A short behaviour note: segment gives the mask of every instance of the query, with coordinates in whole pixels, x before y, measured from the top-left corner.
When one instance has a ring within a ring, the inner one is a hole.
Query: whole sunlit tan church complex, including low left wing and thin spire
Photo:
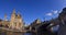
[[[12,30],[24,30],[23,19],[20,13],[15,13],[15,9],[13,9],[10,21],[7,20],[7,14],[4,14],[4,20],[0,22],[2,26],[8,26]]]

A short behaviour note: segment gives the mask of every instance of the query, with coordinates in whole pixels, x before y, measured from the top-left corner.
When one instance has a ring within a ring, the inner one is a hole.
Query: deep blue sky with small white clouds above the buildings
[[[34,20],[41,21],[57,18],[66,0],[0,0],[0,19],[4,20],[4,13],[10,21],[13,9],[20,12],[26,25]]]

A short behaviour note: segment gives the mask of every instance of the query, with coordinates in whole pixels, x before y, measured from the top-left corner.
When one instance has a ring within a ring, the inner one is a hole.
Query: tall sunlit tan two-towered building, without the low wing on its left
[[[13,10],[13,13],[11,14],[11,20],[9,24],[9,28],[15,28],[15,30],[23,30],[23,20],[21,18],[21,14],[15,14],[15,10]]]

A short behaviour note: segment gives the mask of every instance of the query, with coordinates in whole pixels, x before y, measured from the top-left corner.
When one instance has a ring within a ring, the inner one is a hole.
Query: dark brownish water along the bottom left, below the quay
[[[36,35],[35,33],[31,32],[12,32],[12,31],[7,31],[7,30],[0,30],[0,35]]]

